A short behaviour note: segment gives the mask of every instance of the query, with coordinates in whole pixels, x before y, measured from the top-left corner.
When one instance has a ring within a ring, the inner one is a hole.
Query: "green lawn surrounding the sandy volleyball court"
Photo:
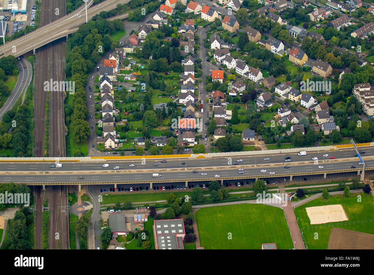
[[[329,199],[318,198],[295,208],[295,216],[298,218],[298,225],[300,227],[300,231],[303,231],[304,240],[308,249],[327,249],[332,227],[374,234],[373,222],[347,225],[341,225],[340,223],[342,222],[326,223],[326,227],[316,228],[316,226],[314,226],[313,229],[311,228],[312,226],[305,210],[306,207],[341,204],[348,216],[348,221],[374,219],[373,196],[370,194],[368,195],[365,193],[360,193],[359,195],[361,195],[361,202],[358,202],[357,195],[358,194],[354,194],[349,198],[342,195],[333,196]],[[322,224],[322,226],[324,225]],[[304,227],[305,229],[303,229]],[[318,239],[315,239],[315,233],[318,233]]]

